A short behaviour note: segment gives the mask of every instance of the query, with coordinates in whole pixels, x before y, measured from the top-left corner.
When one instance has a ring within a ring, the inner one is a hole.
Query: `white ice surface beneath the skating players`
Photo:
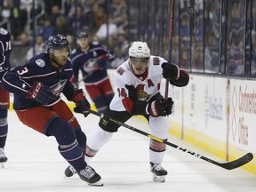
[[[99,117],[76,115],[85,133],[98,124]],[[9,113],[9,134],[5,147],[9,158],[0,168],[1,192],[253,192],[255,175],[243,169],[227,171],[168,147],[164,168],[169,174],[164,183],[152,181],[148,165],[148,137],[121,127],[112,140],[92,159],[92,167],[100,173],[104,187],[88,186],[77,175],[64,178],[68,163],[60,156],[53,137],[45,137],[20,123]],[[149,132],[148,124],[132,118],[130,124]],[[170,137],[170,142],[193,150],[214,160],[218,159],[188,143]]]

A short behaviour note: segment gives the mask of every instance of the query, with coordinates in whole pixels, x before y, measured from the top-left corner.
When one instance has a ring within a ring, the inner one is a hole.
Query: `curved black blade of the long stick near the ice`
[[[244,164],[249,163],[250,161],[252,161],[252,158],[253,158],[252,153],[247,153],[246,155],[236,159],[235,161],[221,164],[220,166],[227,170],[233,170],[233,169],[236,169],[237,167],[240,167],[240,166],[243,166]]]

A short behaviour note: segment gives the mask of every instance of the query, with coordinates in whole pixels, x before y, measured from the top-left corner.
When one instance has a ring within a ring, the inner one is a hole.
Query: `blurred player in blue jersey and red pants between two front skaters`
[[[114,96],[107,72],[107,63],[115,59],[108,48],[98,42],[89,42],[83,30],[77,35],[79,45],[71,52],[74,76],[71,81],[78,86],[79,71],[82,71],[85,89],[90,95],[99,113],[103,113]]]

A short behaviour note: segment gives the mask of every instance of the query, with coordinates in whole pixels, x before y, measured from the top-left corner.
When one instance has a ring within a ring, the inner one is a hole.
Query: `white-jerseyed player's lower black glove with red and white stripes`
[[[164,100],[153,100],[148,103],[148,114],[150,116],[166,116]]]

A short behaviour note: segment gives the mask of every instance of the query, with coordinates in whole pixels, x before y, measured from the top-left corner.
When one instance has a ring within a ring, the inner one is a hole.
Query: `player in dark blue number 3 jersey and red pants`
[[[47,52],[13,68],[3,76],[4,89],[14,95],[13,108],[20,121],[28,127],[53,136],[60,155],[77,171],[81,180],[89,185],[102,186],[100,175],[84,161],[86,136],[81,130],[60,93],[76,103],[76,111],[89,114],[90,104],[82,90],[70,82],[72,65],[68,59],[70,47],[65,36],[50,36]]]

